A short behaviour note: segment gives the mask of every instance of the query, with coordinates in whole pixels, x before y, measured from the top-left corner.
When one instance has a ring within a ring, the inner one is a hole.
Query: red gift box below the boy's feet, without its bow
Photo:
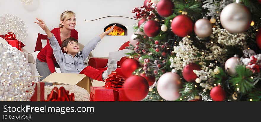
[[[123,88],[91,86],[90,101],[132,101],[124,93]]]

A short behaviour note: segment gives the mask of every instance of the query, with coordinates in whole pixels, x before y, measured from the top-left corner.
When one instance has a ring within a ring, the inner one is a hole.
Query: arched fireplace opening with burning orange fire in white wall
[[[116,26],[114,27],[114,30],[112,30],[111,33],[107,34],[107,36],[127,36],[128,35],[127,28],[124,25],[119,24],[119,23],[112,23],[112,24],[107,25],[104,28],[103,32],[109,30],[112,27],[112,25],[114,25],[114,24],[116,24]]]

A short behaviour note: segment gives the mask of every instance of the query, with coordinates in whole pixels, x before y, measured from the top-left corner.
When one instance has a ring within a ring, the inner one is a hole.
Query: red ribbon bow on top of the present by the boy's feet
[[[121,88],[124,80],[122,76],[117,75],[117,72],[114,71],[105,79],[105,87]]]

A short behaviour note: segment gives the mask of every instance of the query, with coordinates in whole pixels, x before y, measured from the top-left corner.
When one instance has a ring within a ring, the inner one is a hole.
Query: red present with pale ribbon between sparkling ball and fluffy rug
[[[31,97],[31,101],[44,101],[44,83],[42,82],[33,82],[32,85],[35,85],[34,94]]]

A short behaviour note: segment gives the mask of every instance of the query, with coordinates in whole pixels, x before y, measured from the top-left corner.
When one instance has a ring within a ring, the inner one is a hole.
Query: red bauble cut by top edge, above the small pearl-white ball
[[[173,14],[174,4],[170,0],[161,0],[157,3],[157,12],[160,16],[168,17]]]

